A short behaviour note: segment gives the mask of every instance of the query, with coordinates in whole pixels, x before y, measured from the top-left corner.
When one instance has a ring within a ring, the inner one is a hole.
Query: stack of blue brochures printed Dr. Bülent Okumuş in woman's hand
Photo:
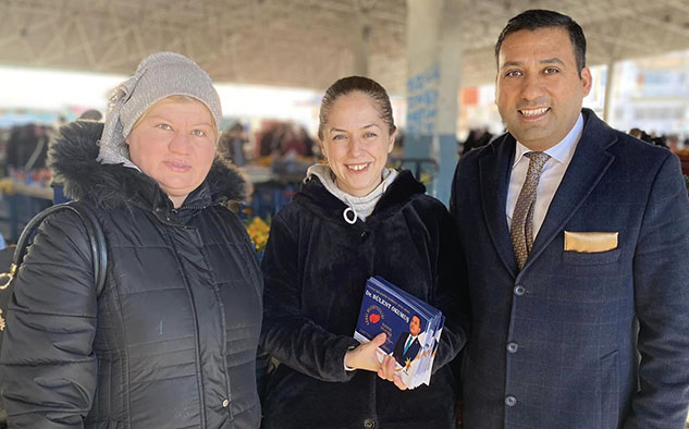
[[[435,307],[381,277],[372,277],[366,281],[354,338],[366,343],[385,332],[387,341],[379,351],[395,358],[402,382],[414,389],[430,384],[444,323],[445,317]]]

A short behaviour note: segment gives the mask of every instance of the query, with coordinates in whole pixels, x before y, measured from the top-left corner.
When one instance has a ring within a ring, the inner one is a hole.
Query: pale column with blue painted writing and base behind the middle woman
[[[447,204],[457,162],[457,113],[462,71],[458,0],[407,0],[407,134],[405,167],[428,192]],[[436,162],[434,171],[432,160]],[[418,169],[414,167],[418,166]],[[417,172],[415,171],[415,173]]]

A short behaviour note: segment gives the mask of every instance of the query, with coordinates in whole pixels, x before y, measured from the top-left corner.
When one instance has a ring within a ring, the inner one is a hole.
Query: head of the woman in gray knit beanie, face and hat
[[[168,142],[171,124],[161,125],[160,119],[180,119],[198,127],[189,130],[197,138],[185,157],[177,154],[185,148]],[[188,122],[192,119],[196,121]],[[155,53],[111,97],[98,160],[142,170],[179,207],[210,170],[221,119],[220,98],[204,70],[179,53]],[[162,150],[156,143],[162,144]]]

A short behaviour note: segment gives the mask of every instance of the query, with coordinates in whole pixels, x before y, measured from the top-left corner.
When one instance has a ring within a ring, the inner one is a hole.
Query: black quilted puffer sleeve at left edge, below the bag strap
[[[82,428],[96,390],[96,291],[75,213],[39,226],[14,279],[0,353],[11,428]]]

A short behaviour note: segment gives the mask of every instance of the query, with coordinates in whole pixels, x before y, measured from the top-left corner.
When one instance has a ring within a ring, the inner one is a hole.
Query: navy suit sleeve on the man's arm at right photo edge
[[[668,155],[650,192],[633,260],[640,390],[625,429],[681,429],[689,404],[689,200]]]

